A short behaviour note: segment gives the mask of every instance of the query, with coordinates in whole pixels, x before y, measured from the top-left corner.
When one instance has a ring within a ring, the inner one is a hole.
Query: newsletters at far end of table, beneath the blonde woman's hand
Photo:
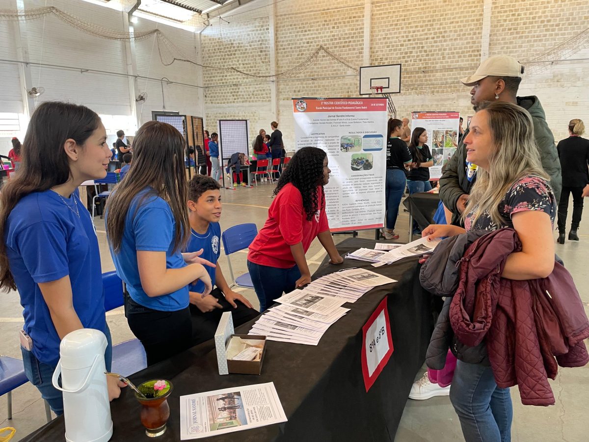
[[[399,259],[408,258],[408,256],[431,253],[440,241],[441,239],[439,238],[431,241],[428,241],[427,238],[419,238],[408,244],[376,243],[374,250],[358,249],[355,252],[348,253],[346,258],[373,262],[373,266],[379,267],[385,264],[392,264]]]

